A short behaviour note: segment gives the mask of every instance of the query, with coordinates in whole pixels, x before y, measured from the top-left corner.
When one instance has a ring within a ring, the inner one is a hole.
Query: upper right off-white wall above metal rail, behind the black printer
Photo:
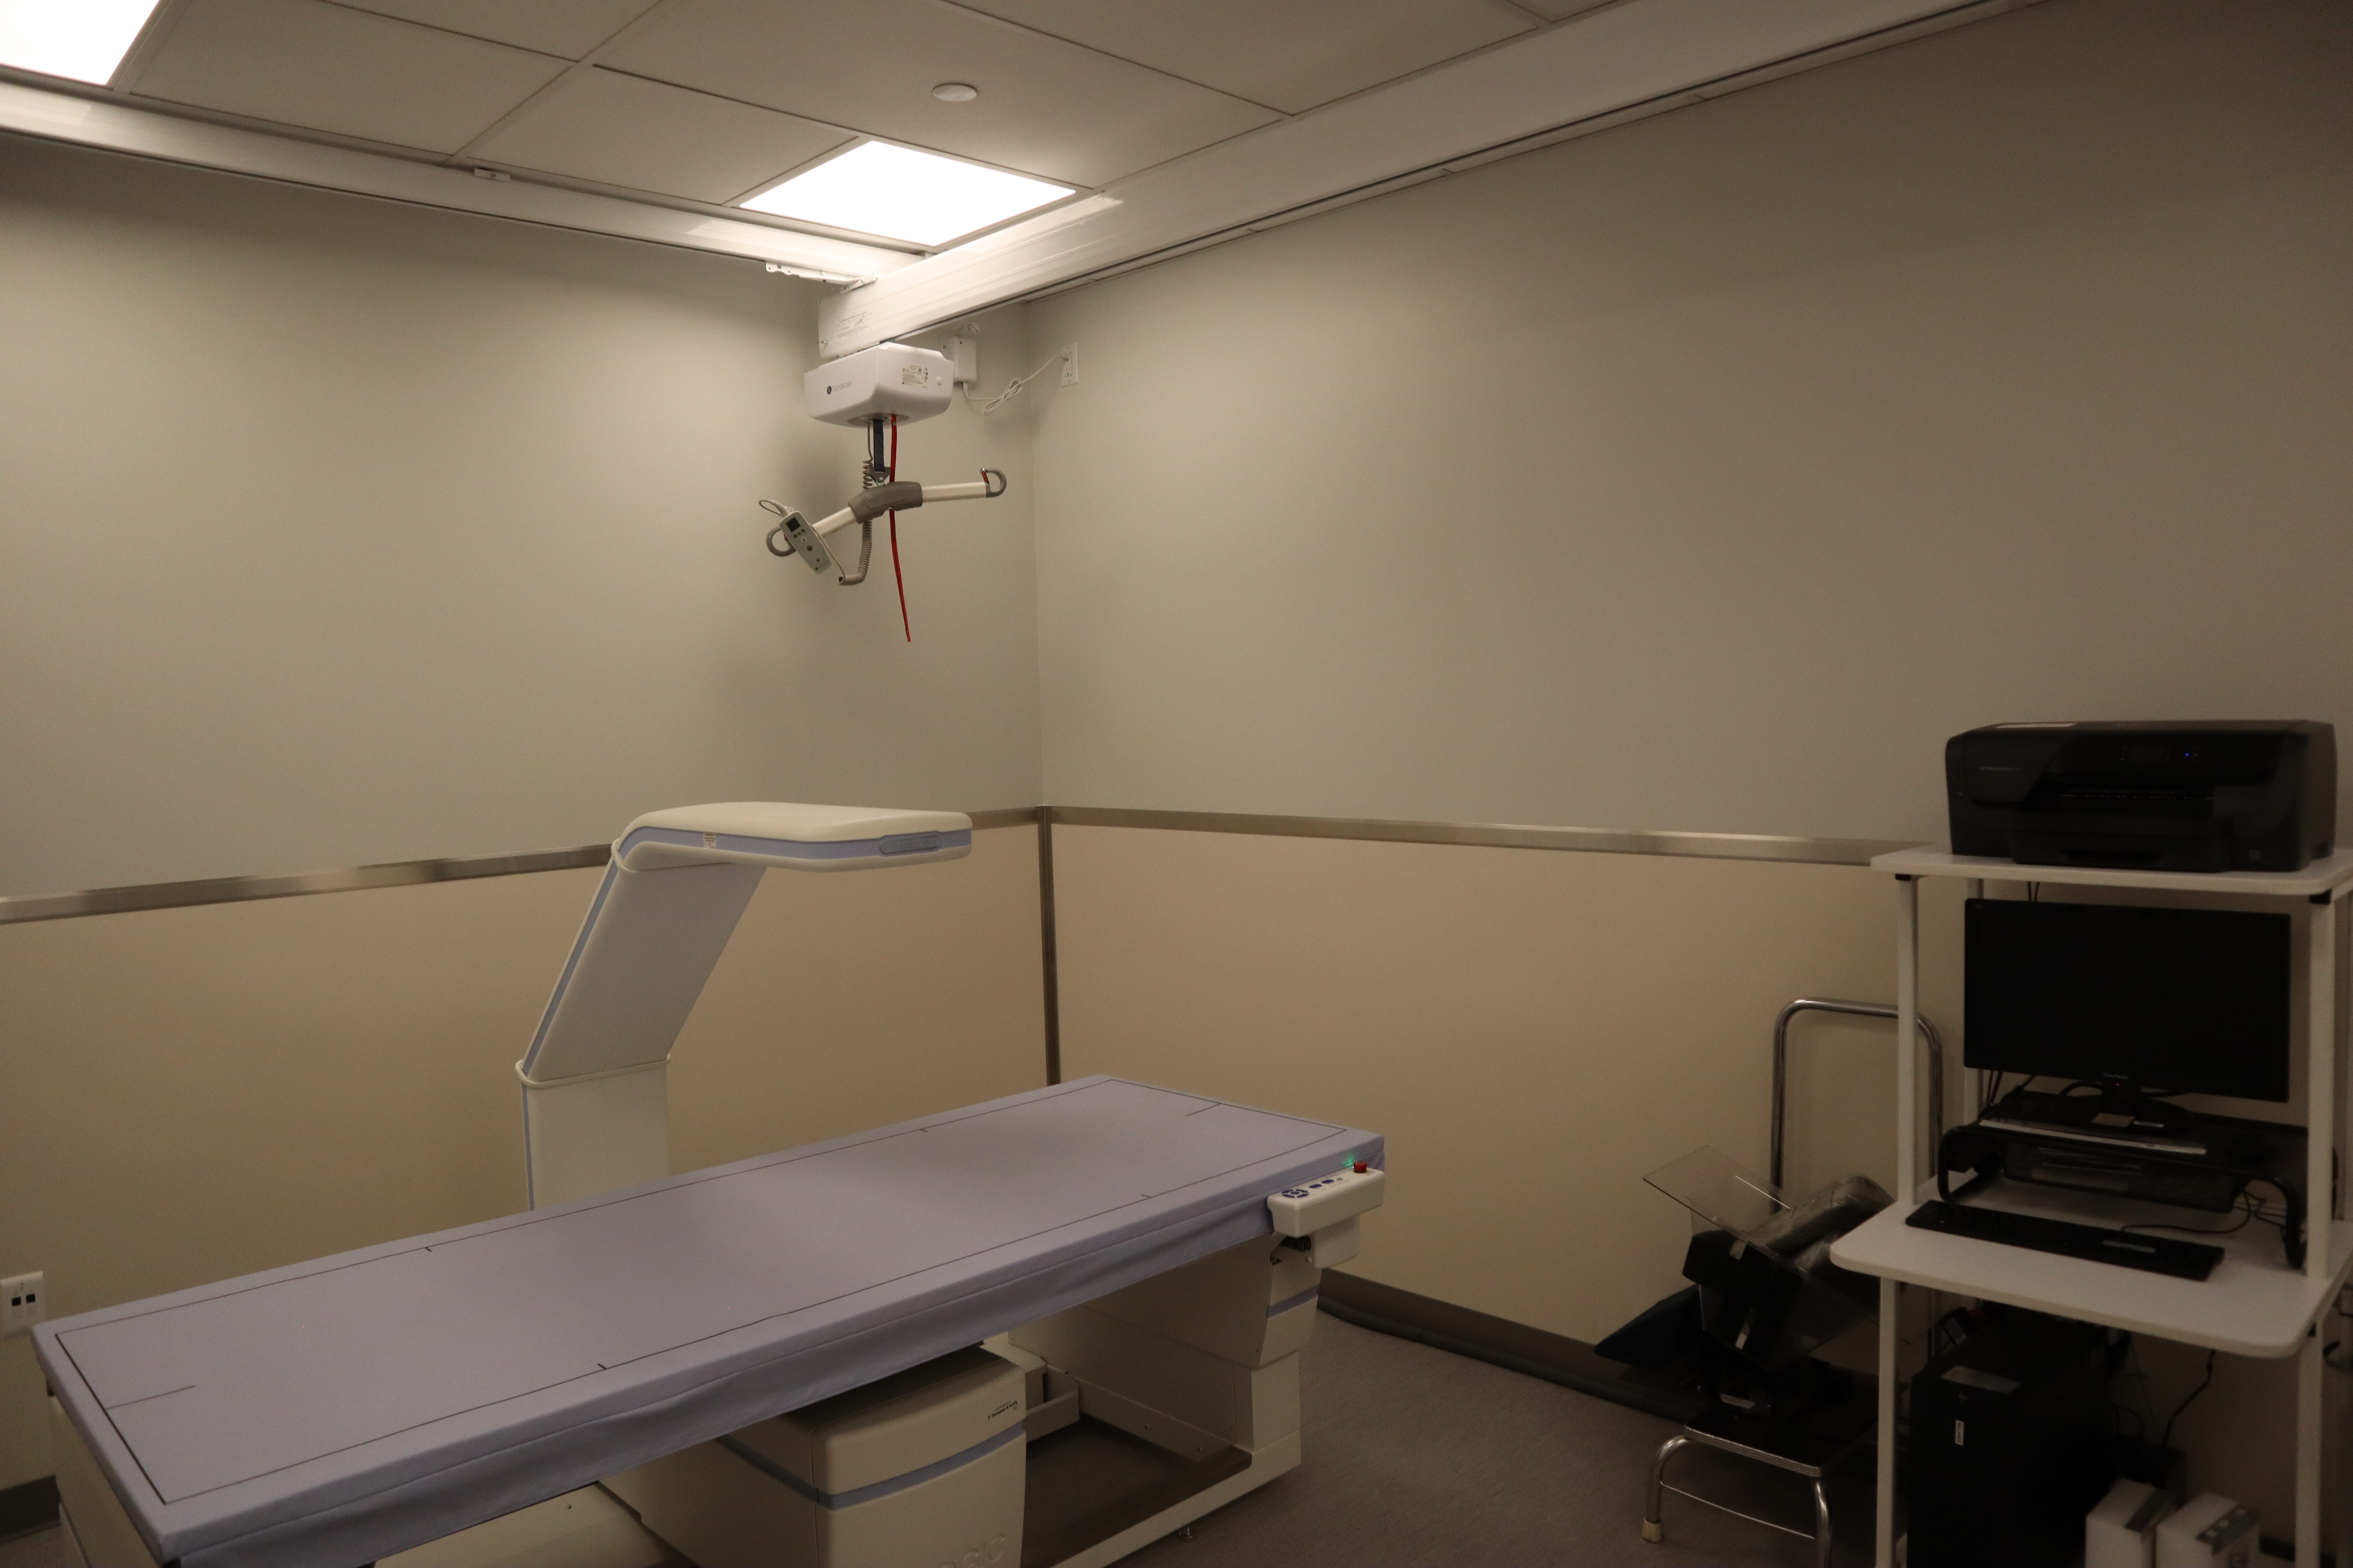
[[[1059,804],[1915,837],[2353,726],[2353,9],[2054,0],[1035,308]]]

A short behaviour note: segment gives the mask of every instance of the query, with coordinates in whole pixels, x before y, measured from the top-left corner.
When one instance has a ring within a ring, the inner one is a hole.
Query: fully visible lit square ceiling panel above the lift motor
[[[1071,195],[1026,174],[868,141],[741,205],[861,235],[944,244]]]

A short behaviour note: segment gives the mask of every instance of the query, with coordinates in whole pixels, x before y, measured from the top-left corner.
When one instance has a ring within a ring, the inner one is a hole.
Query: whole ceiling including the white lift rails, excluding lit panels
[[[2033,2],[162,0],[0,134],[859,284],[838,355]],[[932,256],[734,209],[868,136],[1080,193]]]

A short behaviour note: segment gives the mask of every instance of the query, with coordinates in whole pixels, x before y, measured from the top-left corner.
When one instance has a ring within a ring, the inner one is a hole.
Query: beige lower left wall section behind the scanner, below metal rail
[[[0,1274],[49,1312],[522,1208],[513,1060],[598,872],[0,926]],[[678,1041],[696,1168],[1045,1081],[1035,830],[769,877]],[[49,1474],[0,1340],[0,1486]]]

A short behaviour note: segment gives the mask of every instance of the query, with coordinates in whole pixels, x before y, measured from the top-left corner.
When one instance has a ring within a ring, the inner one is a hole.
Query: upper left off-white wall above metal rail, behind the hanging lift
[[[856,487],[819,294],[0,139],[0,893],[1035,804],[1024,409],[906,435],[1014,480],[901,520],[913,644],[760,543]]]

